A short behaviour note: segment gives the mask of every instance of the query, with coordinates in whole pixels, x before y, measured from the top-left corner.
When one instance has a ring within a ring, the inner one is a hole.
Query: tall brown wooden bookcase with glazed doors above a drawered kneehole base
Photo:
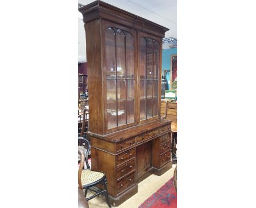
[[[101,1],[79,11],[86,33],[91,168],[106,173],[110,202],[118,206],[138,192],[138,182],[172,167],[171,121],[160,118],[168,29]]]

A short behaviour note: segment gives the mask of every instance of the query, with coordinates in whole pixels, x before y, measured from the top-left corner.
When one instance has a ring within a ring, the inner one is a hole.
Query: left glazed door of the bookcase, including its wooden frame
[[[104,121],[109,133],[135,125],[135,30],[102,21],[102,51]]]

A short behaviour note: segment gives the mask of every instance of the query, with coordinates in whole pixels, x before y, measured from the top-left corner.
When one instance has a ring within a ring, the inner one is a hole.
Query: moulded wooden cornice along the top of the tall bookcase
[[[165,32],[169,30],[166,27],[162,27],[154,22],[102,1],[95,1],[85,5],[84,7],[80,8],[79,11],[83,14],[84,23],[101,18],[119,23],[125,27],[130,27],[148,34],[156,35],[161,38],[164,38]]]

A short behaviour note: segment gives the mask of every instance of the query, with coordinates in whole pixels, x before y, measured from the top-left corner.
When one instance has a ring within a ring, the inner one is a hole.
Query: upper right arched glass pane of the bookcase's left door
[[[135,78],[133,37],[130,33],[126,35],[126,73],[127,78]]]

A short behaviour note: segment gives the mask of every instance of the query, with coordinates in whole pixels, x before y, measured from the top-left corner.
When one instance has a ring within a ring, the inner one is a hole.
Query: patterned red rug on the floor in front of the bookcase
[[[177,193],[173,186],[173,178],[158,189],[138,208],[177,208]]]

